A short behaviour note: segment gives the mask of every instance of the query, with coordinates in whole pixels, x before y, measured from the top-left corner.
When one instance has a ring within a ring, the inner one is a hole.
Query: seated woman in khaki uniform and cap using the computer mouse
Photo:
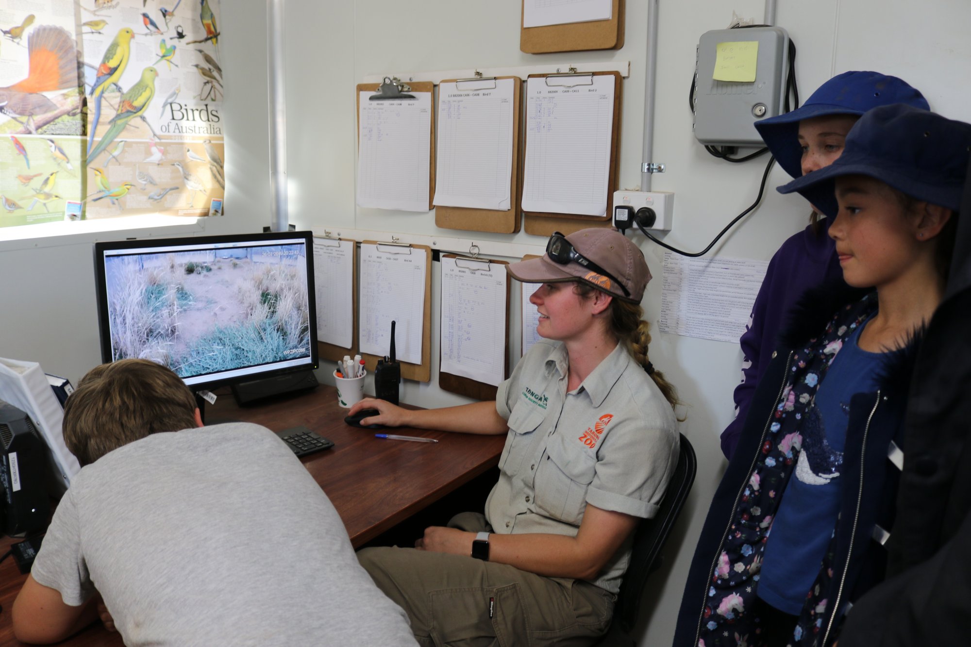
[[[613,229],[555,233],[509,273],[545,339],[495,401],[409,411],[372,398],[363,425],[506,433],[485,515],[426,528],[414,549],[358,559],[422,645],[592,643],[610,625],[633,531],[678,461],[674,389],[648,360],[644,255]]]

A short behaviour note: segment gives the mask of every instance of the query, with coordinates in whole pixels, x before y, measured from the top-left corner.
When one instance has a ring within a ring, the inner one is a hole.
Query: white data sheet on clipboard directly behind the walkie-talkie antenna
[[[421,363],[428,255],[424,250],[374,243],[361,243],[360,255],[361,353],[387,355],[394,321],[397,358]]]

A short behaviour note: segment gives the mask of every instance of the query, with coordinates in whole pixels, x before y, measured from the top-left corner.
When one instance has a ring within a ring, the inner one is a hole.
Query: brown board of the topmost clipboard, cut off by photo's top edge
[[[519,17],[519,50],[526,53],[552,51],[619,50],[623,47],[624,0],[613,0],[609,20],[570,22],[542,27],[525,27],[525,3]]]

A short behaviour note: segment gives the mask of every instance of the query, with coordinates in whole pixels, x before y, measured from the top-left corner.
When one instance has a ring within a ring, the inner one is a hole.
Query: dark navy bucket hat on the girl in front
[[[903,104],[882,106],[856,121],[836,161],[778,190],[798,191],[833,217],[839,211],[836,178],[865,175],[912,198],[956,212],[969,157],[971,123]]]

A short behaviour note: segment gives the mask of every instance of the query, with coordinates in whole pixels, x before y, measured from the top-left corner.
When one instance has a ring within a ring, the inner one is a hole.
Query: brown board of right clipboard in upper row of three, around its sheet
[[[544,235],[550,235],[553,231],[560,231],[562,233],[568,234],[568,233],[577,231],[579,229],[584,229],[586,227],[591,227],[591,226],[611,226],[611,223],[612,223],[611,212],[613,210],[614,190],[617,184],[618,162],[619,162],[620,102],[622,98],[621,97],[622,84],[621,84],[621,78],[620,78],[619,72],[585,72],[580,74],[571,72],[569,74],[529,75],[526,82],[527,83],[526,87],[527,87],[527,96],[528,96],[529,80],[544,79],[545,80],[544,84],[546,87],[552,87],[552,88],[562,87],[564,89],[583,89],[585,85],[604,83],[602,81],[595,82],[594,80],[598,78],[602,79],[605,77],[609,77],[613,79],[614,96],[613,96],[613,112],[611,113],[611,124],[610,124],[610,134],[609,134],[610,148],[606,152],[607,153],[607,182],[606,182],[606,185],[603,187],[603,196],[606,202],[606,209],[604,210],[603,215],[586,216],[586,215],[580,215],[580,214],[557,213],[557,212],[551,212],[551,211],[525,211],[525,206],[524,206],[523,215],[524,215],[524,221],[525,221],[524,226],[525,226],[526,233],[544,236]],[[569,96],[576,96],[576,94],[570,93]],[[519,183],[520,193],[523,193],[523,191],[525,190],[525,174],[527,171],[526,166],[527,164],[530,163],[530,153],[529,153],[530,131],[534,127],[534,125],[536,125],[537,127],[539,125],[542,125],[540,123],[537,123],[537,124],[529,123],[530,117],[528,115],[530,113],[530,110],[531,108],[527,104],[526,106],[527,123],[525,127],[526,132],[524,135],[524,146],[523,146],[523,149],[525,150],[526,153],[524,156],[523,163],[520,164],[520,168],[522,169],[521,175],[523,177],[523,181]],[[534,109],[534,113],[535,114],[533,117],[535,119],[543,119],[543,116],[540,114],[538,110]],[[605,124],[602,122],[601,125],[605,125]],[[550,131],[548,130],[547,133],[549,132]],[[563,134],[566,135],[566,133],[563,133]],[[550,136],[551,135],[549,134],[543,135],[544,138],[550,137]],[[604,141],[606,141],[607,133],[604,132],[603,136],[605,138]],[[539,135],[533,134],[533,137],[534,139],[539,141],[538,139]],[[603,167],[600,167],[600,168],[602,169]],[[600,194],[598,194],[597,197],[599,197],[599,195]],[[521,199],[522,198],[520,196],[520,200]],[[554,221],[554,222],[550,222],[550,221]]]

